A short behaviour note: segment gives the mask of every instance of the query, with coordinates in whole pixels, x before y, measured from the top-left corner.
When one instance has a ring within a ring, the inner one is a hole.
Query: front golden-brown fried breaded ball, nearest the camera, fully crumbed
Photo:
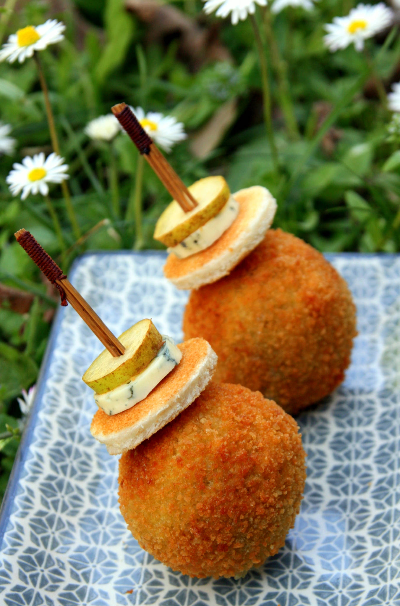
[[[296,422],[241,385],[214,384],[122,455],[119,503],[141,547],[190,576],[239,576],[284,545],[306,478]]]

